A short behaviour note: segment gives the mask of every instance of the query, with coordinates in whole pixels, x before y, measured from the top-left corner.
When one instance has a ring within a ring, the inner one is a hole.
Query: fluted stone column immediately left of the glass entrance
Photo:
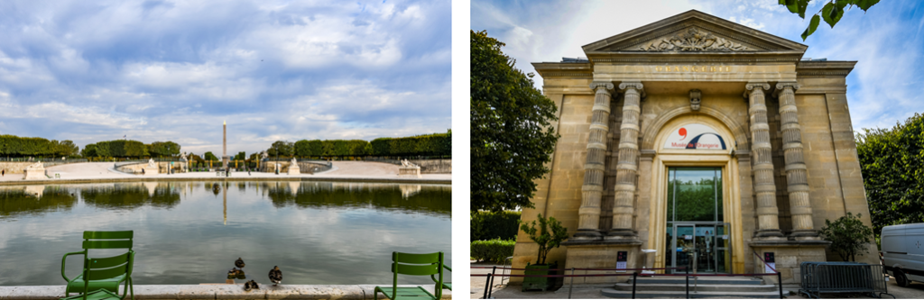
[[[635,236],[632,213],[638,174],[638,114],[641,114],[641,82],[623,82],[623,125],[619,127],[619,162],[616,163],[616,196],[613,203],[613,228],[609,235]]]

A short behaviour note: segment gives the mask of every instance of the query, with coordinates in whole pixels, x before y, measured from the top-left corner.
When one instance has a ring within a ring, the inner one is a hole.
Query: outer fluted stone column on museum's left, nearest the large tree
[[[603,196],[603,168],[606,156],[606,134],[610,130],[610,99],[614,86],[611,82],[593,82],[596,90],[593,115],[590,119],[590,139],[587,144],[587,162],[584,164],[584,186],[581,187],[581,204],[577,210],[575,237],[600,237],[600,200]]]

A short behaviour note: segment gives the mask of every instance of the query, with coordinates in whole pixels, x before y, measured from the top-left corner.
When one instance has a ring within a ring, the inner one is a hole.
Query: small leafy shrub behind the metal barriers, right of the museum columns
[[[855,217],[848,211],[847,215],[834,222],[825,220],[819,234],[824,240],[831,242],[831,249],[844,261],[848,258],[849,261],[857,261],[857,254],[862,256],[863,253],[869,253],[872,229],[860,221],[859,213]]]

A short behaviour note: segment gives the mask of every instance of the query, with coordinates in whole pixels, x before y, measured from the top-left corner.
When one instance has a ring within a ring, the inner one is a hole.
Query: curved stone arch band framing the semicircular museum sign
[[[731,131],[732,136],[734,136],[736,145],[730,148],[734,148],[738,152],[748,152],[748,127],[738,124],[734,119],[714,108],[702,106],[699,107],[699,112],[695,112],[690,109],[689,105],[678,106],[654,119],[642,135],[640,150],[658,149],[658,145],[655,142],[656,139],[658,139],[658,133],[661,132],[663,126],[667,124],[667,122],[683,114],[706,114],[715,118],[723,123],[724,126]]]

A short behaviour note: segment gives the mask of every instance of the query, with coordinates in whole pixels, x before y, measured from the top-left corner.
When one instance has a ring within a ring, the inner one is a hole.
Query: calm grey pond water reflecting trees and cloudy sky
[[[451,193],[334,182],[0,186],[0,285],[65,284],[61,258],[96,230],[134,230],[135,284],[224,283],[237,258],[261,283],[274,266],[284,284],[390,283],[392,251],[443,251],[452,266]],[[68,277],[80,258],[68,257]]]

